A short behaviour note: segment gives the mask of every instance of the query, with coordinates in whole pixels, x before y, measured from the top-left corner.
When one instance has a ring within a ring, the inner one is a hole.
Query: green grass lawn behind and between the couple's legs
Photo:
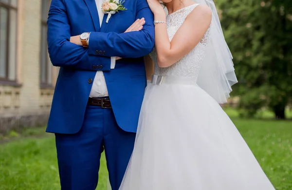
[[[274,187],[292,190],[292,121],[236,117],[233,121]],[[0,144],[0,190],[60,189],[54,136],[29,137],[43,130],[26,130]],[[103,155],[97,190],[106,190],[107,176]]]

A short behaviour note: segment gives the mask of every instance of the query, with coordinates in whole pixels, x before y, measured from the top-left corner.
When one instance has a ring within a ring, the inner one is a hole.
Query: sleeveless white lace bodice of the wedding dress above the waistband
[[[171,40],[177,30],[181,27],[187,15],[199,4],[194,4],[180,9],[166,17],[166,25],[169,40]],[[167,68],[160,68],[157,64],[157,54],[155,48],[150,53],[150,57],[155,62],[155,75],[158,76],[186,76],[192,77],[196,81],[199,75],[202,59],[205,55],[206,46],[209,41],[210,28],[197,46],[177,61],[175,64]]]

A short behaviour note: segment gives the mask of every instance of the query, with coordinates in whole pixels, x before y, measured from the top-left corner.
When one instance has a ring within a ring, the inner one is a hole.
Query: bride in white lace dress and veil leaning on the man
[[[274,190],[218,104],[237,79],[214,2],[163,2],[166,17],[148,0],[155,72],[120,190]]]

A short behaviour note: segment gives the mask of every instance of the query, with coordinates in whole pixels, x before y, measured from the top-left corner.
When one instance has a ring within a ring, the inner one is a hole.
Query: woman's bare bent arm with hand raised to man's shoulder
[[[154,13],[154,20],[165,21],[166,16],[157,0],[148,0]],[[212,11],[207,5],[198,5],[185,19],[183,25],[169,41],[166,24],[155,26],[155,47],[160,67],[169,67],[188,54],[203,38],[208,30]]]

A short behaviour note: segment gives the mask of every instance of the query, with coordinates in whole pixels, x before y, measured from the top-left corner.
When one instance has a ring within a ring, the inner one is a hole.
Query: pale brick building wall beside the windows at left
[[[41,39],[46,38],[41,35],[42,3],[47,3],[47,7],[50,4],[47,0],[18,0],[17,3],[16,50],[9,52],[16,57],[15,79],[0,78],[0,133],[46,125],[48,119],[58,69],[48,64],[45,72],[51,75],[50,82],[41,84]],[[0,4],[0,11],[5,6]],[[3,25],[2,22],[1,29]]]

